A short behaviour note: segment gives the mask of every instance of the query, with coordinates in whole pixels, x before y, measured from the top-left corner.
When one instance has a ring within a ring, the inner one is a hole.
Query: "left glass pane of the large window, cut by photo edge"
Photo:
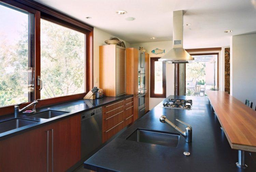
[[[0,3],[0,106],[32,101],[34,97],[29,18],[33,14]]]

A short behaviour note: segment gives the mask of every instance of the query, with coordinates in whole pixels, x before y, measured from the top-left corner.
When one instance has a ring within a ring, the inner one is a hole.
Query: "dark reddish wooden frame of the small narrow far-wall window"
[[[162,94],[155,93],[155,62],[161,57],[150,58],[150,97],[151,98],[166,98],[166,63],[162,63]]]

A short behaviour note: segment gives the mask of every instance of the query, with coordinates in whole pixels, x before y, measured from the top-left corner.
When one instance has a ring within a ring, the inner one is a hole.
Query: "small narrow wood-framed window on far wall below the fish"
[[[150,58],[150,97],[152,98],[166,98],[166,64],[159,62],[159,58]]]

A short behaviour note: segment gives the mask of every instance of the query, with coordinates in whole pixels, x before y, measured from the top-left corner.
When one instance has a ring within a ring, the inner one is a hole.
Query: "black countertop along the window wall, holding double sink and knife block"
[[[118,100],[122,100],[128,97],[132,97],[133,95],[131,94],[126,94],[123,96],[118,96],[118,97],[103,97],[100,99],[94,99],[94,100],[76,100],[76,101],[72,101],[72,102],[66,102],[66,103],[61,103],[61,104],[57,104],[57,105],[53,105],[53,106],[47,106],[47,107],[43,107],[40,109],[37,109],[37,113],[41,112],[41,111],[45,111],[45,110],[58,110],[58,111],[65,111],[65,112],[69,112],[67,114],[63,114],[54,118],[50,118],[50,119],[42,119],[42,118],[32,118],[26,115],[19,115],[19,118],[22,119],[29,119],[29,120],[35,120],[35,121],[39,121],[33,124],[29,124],[23,127],[19,127],[16,128],[14,130],[10,130],[4,133],[0,133],[0,140],[5,139],[7,137],[13,136],[15,134],[19,134],[28,130],[31,130],[34,127],[38,127],[40,125],[43,124],[47,124],[49,122],[55,122],[56,120],[60,120],[62,118],[66,118],[72,115],[76,115],[79,113],[83,113],[87,110],[91,110],[100,106],[104,106],[105,104],[114,102],[114,101],[118,101]],[[10,114],[10,115],[4,115],[4,116],[0,116],[0,123],[1,122],[5,122],[6,120],[12,120],[14,119],[14,115]]]

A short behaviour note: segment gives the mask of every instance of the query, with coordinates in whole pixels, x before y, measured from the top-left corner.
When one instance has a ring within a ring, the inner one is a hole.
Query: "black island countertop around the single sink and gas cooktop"
[[[195,171],[195,172],[255,172],[256,163],[246,153],[248,168],[236,166],[238,151],[232,150],[220,129],[216,115],[205,97],[175,97],[192,99],[192,110],[162,108],[160,103],[142,118],[134,122],[117,138],[105,145],[84,162],[84,167],[94,171]],[[159,118],[167,119],[177,126],[185,127],[175,119],[180,119],[193,127],[192,142],[186,143],[180,136],[177,148],[126,140],[137,128],[178,133]],[[183,152],[190,152],[190,156]]]

